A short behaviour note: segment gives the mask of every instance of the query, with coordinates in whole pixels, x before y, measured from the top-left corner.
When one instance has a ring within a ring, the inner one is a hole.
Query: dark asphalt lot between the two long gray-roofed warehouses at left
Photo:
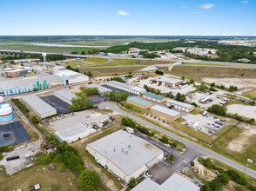
[[[71,112],[71,109],[69,109],[70,105],[58,99],[54,95],[41,97],[41,99],[44,100],[44,102],[47,102],[53,108],[55,108],[57,110],[57,114],[64,114],[65,112]]]

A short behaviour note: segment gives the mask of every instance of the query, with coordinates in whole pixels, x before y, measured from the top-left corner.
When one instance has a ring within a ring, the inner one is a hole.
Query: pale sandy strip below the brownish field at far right
[[[256,79],[253,78],[212,78],[212,77],[204,77],[202,78],[203,82],[212,83],[215,82],[217,85],[225,85],[226,87],[237,86],[239,89],[241,88],[256,88]]]

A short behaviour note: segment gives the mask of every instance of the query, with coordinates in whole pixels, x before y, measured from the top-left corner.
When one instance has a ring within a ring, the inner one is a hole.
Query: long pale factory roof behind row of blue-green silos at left
[[[12,89],[15,87],[25,87],[25,86],[29,87],[30,82],[32,83],[32,85],[36,85],[37,81],[39,81],[42,84],[44,83],[44,80],[47,83],[63,81],[62,77],[57,75],[37,75],[37,76],[17,77],[14,79],[6,78],[0,82],[0,90],[3,90],[4,88]]]

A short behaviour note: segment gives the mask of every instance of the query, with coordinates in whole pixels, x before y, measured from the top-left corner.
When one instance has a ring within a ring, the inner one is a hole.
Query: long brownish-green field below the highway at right
[[[171,74],[177,76],[185,76],[185,78],[193,78],[201,81],[203,77],[216,78],[256,78],[256,69],[234,69],[221,67],[187,67],[184,65],[174,66]]]

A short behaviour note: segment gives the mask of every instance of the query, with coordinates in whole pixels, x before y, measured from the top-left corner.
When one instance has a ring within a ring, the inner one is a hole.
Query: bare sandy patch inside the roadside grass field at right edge
[[[239,153],[243,153],[243,151],[246,150],[246,146],[251,142],[253,135],[256,135],[256,127],[253,125],[245,124],[243,129],[243,133],[239,134],[237,139],[229,142],[226,147],[227,149]]]

